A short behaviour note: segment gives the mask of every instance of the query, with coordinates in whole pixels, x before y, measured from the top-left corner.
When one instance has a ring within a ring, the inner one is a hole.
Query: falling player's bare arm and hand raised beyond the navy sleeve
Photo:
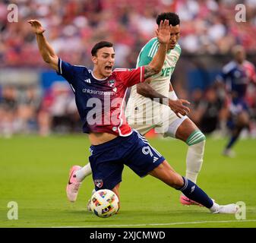
[[[45,30],[43,29],[42,24],[40,21],[36,20],[27,22],[30,23],[33,32],[36,34],[36,41],[38,48],[40,49],[40,54],[43,57],[43,61],[48,63],[55,71],[58,71],[58,56],[55,54],[52,46],[46,41],[46,37],[43,36]]]

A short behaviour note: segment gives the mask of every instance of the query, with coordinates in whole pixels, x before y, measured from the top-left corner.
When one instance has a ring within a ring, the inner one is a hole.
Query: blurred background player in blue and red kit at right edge
[[[217,81],[226,87],[227,109],[229,109],[228,128],[231,131],[228,144],[223,150],[224,156],[235,156],[232,147],[239,139],[243,128],[249,127],[248,104],[245,99],[248,84],[256,84],[254,65],[245,60],[245,49],[242,46],[232,48],[234,60],[223,67]]]

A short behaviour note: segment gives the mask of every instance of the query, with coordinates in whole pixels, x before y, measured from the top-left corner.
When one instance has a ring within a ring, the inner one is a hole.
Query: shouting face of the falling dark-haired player
[[[98,74],[109,77],[115,64],[115,51],[112,47],[99,49],[96,56],[93,56],[93,63]]]

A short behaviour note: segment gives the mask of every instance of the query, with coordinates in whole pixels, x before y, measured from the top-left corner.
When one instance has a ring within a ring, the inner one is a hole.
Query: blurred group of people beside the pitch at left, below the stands
[[[68,84],[55,82],[47,92],[38,87],[2,88],[0,100],[0,136],[12,134],[81,131],[74,95]]]

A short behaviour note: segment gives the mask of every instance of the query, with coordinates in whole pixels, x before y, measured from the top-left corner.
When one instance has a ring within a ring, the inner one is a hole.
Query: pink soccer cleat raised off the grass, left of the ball
[[[77,181],[75,172],[81,169],[81,166],[72,166],[69,172],[69,180],[66,188],[68,200],[72,203],[77,200],[78,190],[81,187],[82,182]]]

